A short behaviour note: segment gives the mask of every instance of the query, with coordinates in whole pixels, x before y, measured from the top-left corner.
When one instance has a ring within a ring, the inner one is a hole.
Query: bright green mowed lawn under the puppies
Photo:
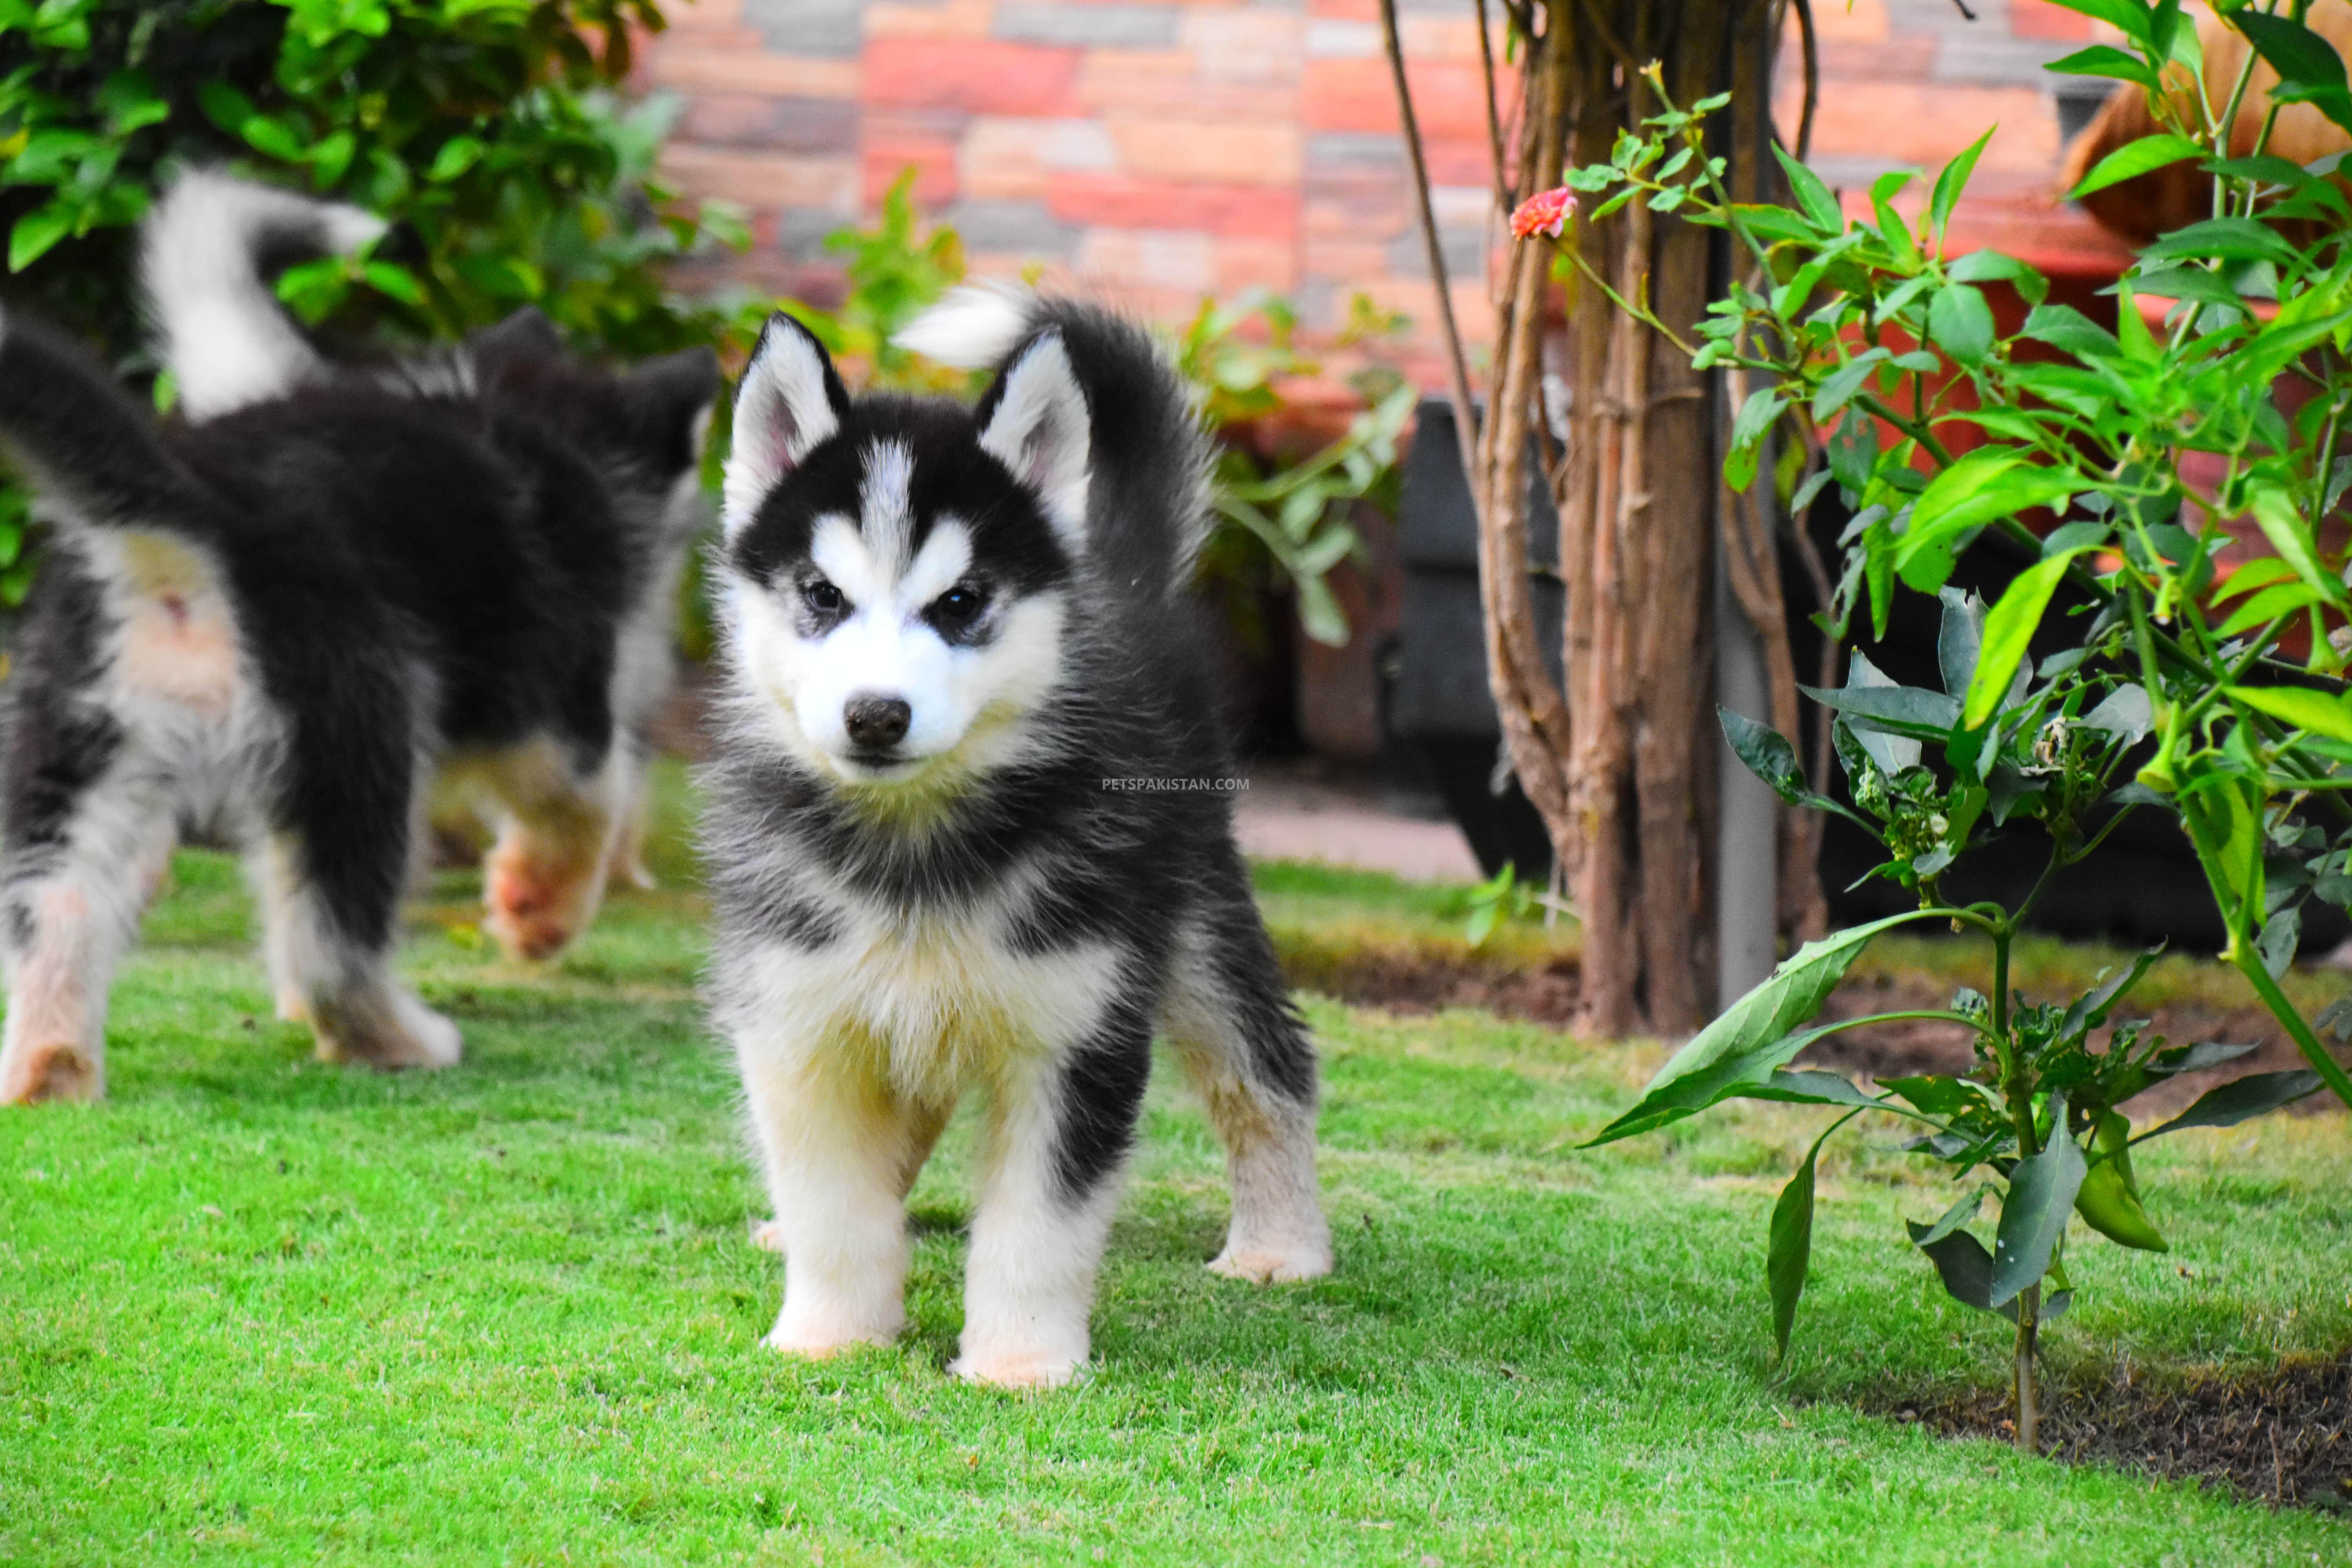
[[[675,806],[675,802],[673,802]],[[682,851],[661,856],[684,884]],[[701,905],[560,966],[473,877],[407,969],[466,1065],[374,1077],[268,1018],[235,867],[186,853],[115,990],[113,1098],[0,1114],[0,1561],[2345,1563],[2352,1523],[2020,1460],[1865,1408],[1994,1387],[2006,1324],[1900,1239],[1947,1190],[1832,1147],[1785,1387],[1764,1215],[1818,1112],[1576,1152],[1656,1046],[1308,999],[1338,1274],[1207,1274],[1221,1157],[1152,1091],[1084,1385],[943,1373],[969,1128],[915,1192],[913,1328],[757,1340],[781,1265],[694,1001]],[[2164,1258],[2077,1227],[2060,1371],[2352,1345],[2343,1117],[2140,1159]]]

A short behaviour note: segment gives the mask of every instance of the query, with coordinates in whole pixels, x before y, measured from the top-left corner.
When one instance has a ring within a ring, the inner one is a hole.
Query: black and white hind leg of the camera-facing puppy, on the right
[[[1183,933],[1167,1034],[1225,1143],[1232,1227],[1209,1267],[1258,1284],[1331,1272],[1315,1180],[1315,1046],[1240,860],[1221,865]]]

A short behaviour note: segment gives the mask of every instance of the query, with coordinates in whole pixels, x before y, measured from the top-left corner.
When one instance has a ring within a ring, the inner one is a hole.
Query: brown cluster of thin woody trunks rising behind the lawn
[[[1383,0],[1383,21],[1406,94],[1392,2]],[[1498,195],[1524,200],[1559,186],[1566,162],[1606,160],[1623,129],[1661,108],[1642,78],[1653,54],[1679,106],[1733,87],[1733,61],[1762,56],[1755,45],[1773,9],[1773,0],[1538,0],[1526,12],[1536,35],[1517,49],[1517,167],[1494,172]],[[1750,115],[1764,115],[1759,71],[1745,71]],[[1501,160],[1501,115],[1489,120],[1489,141]],[[1745,141],[1717,150],[1752,158]],[[1421,167],[1416,158],[1416,174]],[[1677,329],[1700,320],[1722,282],[1717,235],[1646,202],[1581,221],[1564,244]],[[1722,494],[1708,376],[1599,289],[1573,280],[1564,294],[1555,289],[1555,259],[1543,240],[1508,252],[1482,423],[1472,425],[1456,388],[1461,428],[1477,428],[1470,494],[1489,684],[1519,788],[1550,830],[1583,919],[1585,1027],[1679,1034],[1705,1016],[1712,978],[1703,846],[1715,795],[1710,583],[1719,515],[1736,531],[1738,604],[1764,632],[1773,719],[1795,729],[1769,503],[1759,498],[1743,517]],[[1545,393],[1545,364],[1559,393]],[[1543,454],[1552,418],[1564,440],[1543,470],[1559,512],[1564,682],[1552,679],[1536,632],[1526,538],[1526,465]]]

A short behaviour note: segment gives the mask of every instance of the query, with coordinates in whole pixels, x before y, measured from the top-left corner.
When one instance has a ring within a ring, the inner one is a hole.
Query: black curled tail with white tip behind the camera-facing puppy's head
[[[1181,592],[1209,538],[1209,437],[1192,395],[1134,322],[1025,289],[955,289],[898,334],[898,346],[962,369],[1004,371],[1058,334],[1087,397],[1087,536],[1120,581]],[[981,400],[985,421],[997,390]]]

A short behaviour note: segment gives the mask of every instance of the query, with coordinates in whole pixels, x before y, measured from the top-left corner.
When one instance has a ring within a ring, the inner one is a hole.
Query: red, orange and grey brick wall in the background
[[[1969,209],[1983,242],[2112,266],[2049,200],[2058,158],[2042,61],[2082,47],[2046,0],[1816,0],[1813,165],[1860,190],[1938,165],[1999,122]],[[1404,0],[1456,310],[1486,327],[1489,197],[1468,0]],[[1795,118],[1795,56],[1780,110]],[[1350,292],[1411,313],[1430,294],[1371,0],[696,0],[649,52],[687,96],[668,150],[691,193],[741,202],[755,252],[731,273],[826,299],[823,235],[915,167],[924,212],[974,268],[1044,266],[1178,317],[1268,287],[1329,327]]]

